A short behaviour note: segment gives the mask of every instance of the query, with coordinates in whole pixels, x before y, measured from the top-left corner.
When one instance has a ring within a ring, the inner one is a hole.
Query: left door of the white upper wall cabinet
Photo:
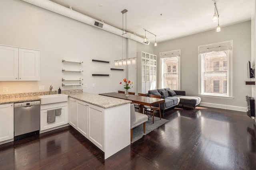
[[[18,80],[18,48],[0,45],[0,80]]]

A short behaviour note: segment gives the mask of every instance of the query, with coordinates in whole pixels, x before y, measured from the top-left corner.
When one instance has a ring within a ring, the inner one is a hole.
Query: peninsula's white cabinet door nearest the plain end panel
[[[104,150],[104,109],[88,104],[88,139],[101,150]],[[118,127],[116,127],[118,128]]]

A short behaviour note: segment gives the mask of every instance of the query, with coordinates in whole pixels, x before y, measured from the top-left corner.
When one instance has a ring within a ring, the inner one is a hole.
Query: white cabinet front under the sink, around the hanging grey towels
[[[48,110],[61,108],[61,115],[56,115],[55,122],[48,123]],[[68,102],[60,102],[55,104],[45,104],[40,107],[40,133],[41,131],[66,125],[68,123]]]

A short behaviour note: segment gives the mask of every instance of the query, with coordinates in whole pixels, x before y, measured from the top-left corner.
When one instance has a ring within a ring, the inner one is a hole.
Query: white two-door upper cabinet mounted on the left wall
[[[0,45],[0,81],[39,80],[39,51]]]

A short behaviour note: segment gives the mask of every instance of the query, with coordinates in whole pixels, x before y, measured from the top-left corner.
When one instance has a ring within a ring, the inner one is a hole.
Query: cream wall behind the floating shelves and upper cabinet
[[[72,86],[62,87],[61,79],[70,77],[84,79],[82,83],[88,87],[77,86],[84,92],[98,94],[124,90],[119,82],[126,77],[127,66],[118,66],[126,68],[124,72],[110,70],[117,68],[114,60],[122,59],[122,37],[20,0],[0,1],[0,21],[0,44],[41,50],[40,81],[0,82],[0,94],[38,92],[39,86],[45,86],[44,91],[48,91],[50,85],[53,90],[58,90],[59,86],[68,90]],[[141,44],[140,48],[145,46]],[[129,50],[136,55],[136,45],[131,48]],[[84,63],[62,63],[62,59]],[[110,61],[110,64],[92,62],[92,59]],[[62,72],[62,68],[84,72]],[[110,74],[110,77],[92,74]],[[9,91],[3,93],[3,87],[8,87]]]

